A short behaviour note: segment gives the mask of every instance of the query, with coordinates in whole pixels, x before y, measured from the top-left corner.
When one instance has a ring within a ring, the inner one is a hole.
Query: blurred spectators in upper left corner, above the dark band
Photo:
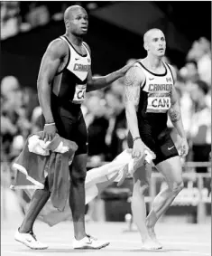
[[[51,20],[63,20],[64,11],[69,5],[70,1],[1,1],[1,39],[30,31],[32,28],[50,23]],[[78,5],[92,10],[97,6],[106,5],[106,2],[79,1]]]

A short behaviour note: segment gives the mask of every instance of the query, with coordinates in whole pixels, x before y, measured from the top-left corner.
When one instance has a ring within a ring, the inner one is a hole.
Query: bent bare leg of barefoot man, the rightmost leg
[[[162,190],[154,198],[152,203],[152,210],[146,218],[146,225],[152,240],[156,242],[154,232],[155,223],[163,213],[169,208],[174,198],[183,188],[182,168],[180,163],[180,156],[171,157],[162,161],[157,166],[158,171],[165,177],[168,187]]]

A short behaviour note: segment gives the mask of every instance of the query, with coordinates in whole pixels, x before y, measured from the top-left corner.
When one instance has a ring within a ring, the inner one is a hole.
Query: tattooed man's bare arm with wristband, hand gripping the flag
[[[140,90],[144,79],[141,69],[135,66],[127,71],[124,77],[125,114],[133,138],[140,137],[136,110],[138,109]],[[144,145],[141,138],[136,139],[134,141],[133,156],[142,156],[143,150]]]

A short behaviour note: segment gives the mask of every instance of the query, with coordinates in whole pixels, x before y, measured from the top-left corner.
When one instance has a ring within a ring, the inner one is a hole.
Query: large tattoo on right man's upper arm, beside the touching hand
[[[125,75],[125,101],[133,101],[135,104],[138,104],[140,98],[140,81],[135,69],[130,69]]]

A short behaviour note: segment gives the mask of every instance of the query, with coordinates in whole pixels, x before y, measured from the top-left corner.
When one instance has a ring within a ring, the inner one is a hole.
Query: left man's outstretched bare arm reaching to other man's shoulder
[[[90,52],[88,44],[87,44],[87,48],[88,48],[88,51]],[[100,77],[93,77],[92,71],[90,68],[88,71],[87,91],[99,90],[99,89],[105,88],[106,86],[110,85],[113,81],[123,77],[125,72],[128,71],[130,67],[132,67],[132,64],[125,65],[122,69],[118,71],[114,71],[106,76],[100,76]]]

